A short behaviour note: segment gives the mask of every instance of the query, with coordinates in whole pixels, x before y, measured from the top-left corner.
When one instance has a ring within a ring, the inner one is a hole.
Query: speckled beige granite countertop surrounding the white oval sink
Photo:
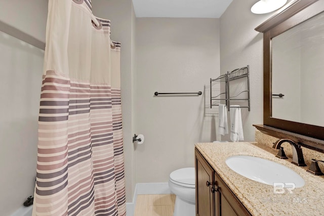
[[[324,215],[324,177],[306,172],[307,167],[291,163],[291,159],[276,158],[277,150],[258,143],[197,143],[195,147],[252,215]],[[273,186],[250,180],[230,169],[226,158],[251,155],[286,165],[305,181],[293,194],[274,194]],[[309,165],[309,164],[307,164]]]

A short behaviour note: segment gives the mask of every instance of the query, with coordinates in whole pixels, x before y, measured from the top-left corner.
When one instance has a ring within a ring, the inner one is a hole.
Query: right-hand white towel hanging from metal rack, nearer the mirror
[[[244,140],[241,108],[238,105],[231,105],[229,114],[231,118],[231,141]]]

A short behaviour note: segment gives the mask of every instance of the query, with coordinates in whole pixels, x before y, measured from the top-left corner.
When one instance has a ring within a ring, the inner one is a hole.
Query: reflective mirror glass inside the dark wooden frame
[[[272,117],[324,126],[324,13],[271,41]]]

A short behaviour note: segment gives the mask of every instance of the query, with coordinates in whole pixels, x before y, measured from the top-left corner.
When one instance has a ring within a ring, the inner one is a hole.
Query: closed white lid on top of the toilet
[[[171,172],[170,180],[172,180],[173,182],[194,186],[194,167],[181,168]]]

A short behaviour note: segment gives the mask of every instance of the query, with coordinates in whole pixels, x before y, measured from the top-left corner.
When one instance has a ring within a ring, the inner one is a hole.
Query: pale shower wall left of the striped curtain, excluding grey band
[[[0,1],[0,20],[45,41],[48,2]],[[0,214],[33,195],[44,52],[0,32]]]

